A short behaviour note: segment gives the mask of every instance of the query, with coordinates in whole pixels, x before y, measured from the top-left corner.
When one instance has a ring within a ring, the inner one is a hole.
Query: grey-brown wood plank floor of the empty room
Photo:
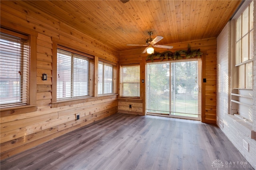
[[[249,163],[245,166],[246,163],[245,158],[215,125],[117,113],[1,160],[0,168],[253,170]]]

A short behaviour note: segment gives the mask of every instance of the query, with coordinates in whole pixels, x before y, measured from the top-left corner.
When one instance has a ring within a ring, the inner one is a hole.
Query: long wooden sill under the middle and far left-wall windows
[[[97,101],[97,100],[102,100],[102,99],[110,99],[110,98],[117,98],[117,94],[52,102],[52,108],[63,107],[63,106],[68,106],[68,105],[76,105],[76,104],[80,104],[80,103],[86,103],[86,102],[92,102],[92,101]]]

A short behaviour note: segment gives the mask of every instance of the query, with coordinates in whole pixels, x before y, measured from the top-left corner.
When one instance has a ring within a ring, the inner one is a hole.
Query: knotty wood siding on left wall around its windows
[[[22,1],[1,1],[1,27],[19,32],[37,32],[36,96],[37,111],[28,109],[1,111],[1,159],[42,144],[74,129],[117,113],[117,95],[92,97],[84,103],[52,107],[52,39],[67,47],[118,63],[118,52],[74,30],[54,17],[36,9],[22,7]],[[55,66],[56,68],[56,66]],[[47,81],[42,81],[42,73]],[[56,105],[56,103],[54,104]],[[80,119],[75,120],[75,113]]]

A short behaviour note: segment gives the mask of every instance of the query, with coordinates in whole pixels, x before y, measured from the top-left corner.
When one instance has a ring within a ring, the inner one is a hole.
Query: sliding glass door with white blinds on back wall
[[[200,59],[147,63],[146,87],[147,114],[200,120]]]

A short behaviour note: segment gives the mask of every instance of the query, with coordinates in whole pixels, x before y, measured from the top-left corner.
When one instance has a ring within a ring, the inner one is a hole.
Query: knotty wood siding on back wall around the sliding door
[[[193,40],[188,42],[169,44],[174,46],[170,51],[174,52],[180,49],[188,49],[188,44],[191,49],[200,49],[202,55],[202,79],[206,78],[206,83],[202,83],[202,115],[201,121],[204,123],[216,124],[216,38],[207,38],[201,40]],[[146,56],[142,54],[145,48],[122,51],[119,53],[119,65],[140,63],[140,79],[145,79],[146,75]],[[155,48],[158,52],[163,52],[166,49]],[[145,83],[140,82],[140,101],[132,99],[118,99],[118,112],[145,115],[146,113],[146,92]],[[138,105],[130,109],[129,105]]]

